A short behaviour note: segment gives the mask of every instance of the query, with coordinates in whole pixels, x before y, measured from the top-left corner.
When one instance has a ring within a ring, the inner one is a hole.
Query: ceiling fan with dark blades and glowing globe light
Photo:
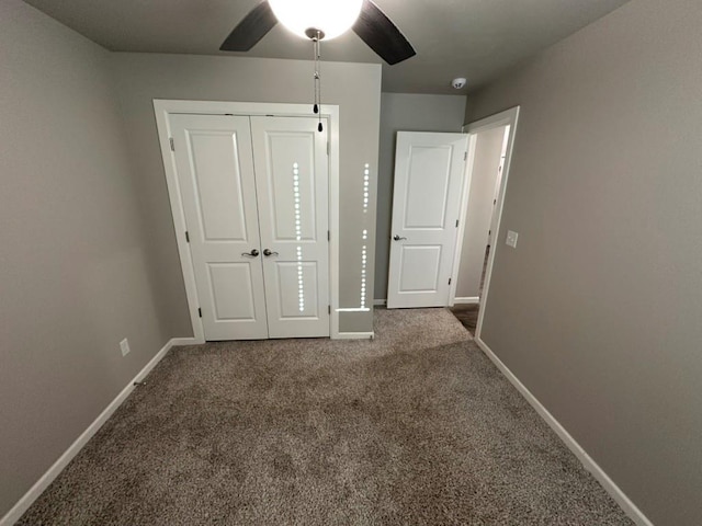
[[[223,52],[248,52],[278,22],[313,42],[349,28],[389,65],[416,55],[397,26],[371,0],[263,0],[231,31]]]

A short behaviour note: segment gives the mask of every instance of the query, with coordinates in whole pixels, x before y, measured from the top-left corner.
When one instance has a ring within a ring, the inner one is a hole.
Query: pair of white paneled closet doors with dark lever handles
[[[205,340],[328,336],[317,121],[172,115],[170,129]]]

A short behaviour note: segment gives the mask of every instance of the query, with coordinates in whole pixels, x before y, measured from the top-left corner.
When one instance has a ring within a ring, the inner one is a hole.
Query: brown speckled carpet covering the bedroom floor
[[[173,348],[22,525],[630,525],[445,309]]]

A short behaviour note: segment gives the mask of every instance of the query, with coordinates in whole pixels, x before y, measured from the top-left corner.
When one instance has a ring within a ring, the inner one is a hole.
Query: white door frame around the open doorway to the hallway
[[[509,169],[511,167],[512,161],[512,150],[514,147],[514,135],[517,133],[517,123],[519,121],[519,107],[514,106],[510,107],[500,113],[496,113],[495,115],[490,115],[489,117],[482,118],[480,121],[476,121],[474,123],[469,123],[463,126],[463,132],[468,134],[468,161],[466,163],[465,178],[463,182],[463,192],[461,198],[461,222],[458,225],[458,231],[456,236],[458,239],[456,240],[456,253],[454,256],[453,263],[453,275],[451,279],[451,290],[449,291],[449,305],[453,306],[455,302],[456,296],[456,282],[458,278],[458,266],[461,263],[461,251],[463,249],[463,236],[465,232],[465,217],[468,209],[468,197],[471,193],[471,181],[473,179],[473,169],[475,165],[475,150],[477,145],[477,134],[482,132],[487,132],[488,129],[509,126],[509,136],[507,138],[507,149],[505,155],[505,165],[502,168],[502,179],[500,182],[500,188],[497,196],[497,204],[495,208],[495,214],[497,215],[497,220],[495,222],[495,233],[499,235],[500,230],[500,221],[502,219],[502,205],[505,204],[505,194],[507,190],[507,180],[509,179]],[[483,327],[483,318],[485,316],[485,302],[487,300],[488,291],[490,288],[490,277],[492,275],[492,263],[495,262],[495,253],[500,245],[498,238],[495,238],[495,242],[490,248],[490,254],[487,259],[487,268],[485,271],[485,285],[483,287],[483,296],[480,298],[480,309],[478,311],[478,321],[475,329],[475,338],[477,339],[480,335],[480,329]]]

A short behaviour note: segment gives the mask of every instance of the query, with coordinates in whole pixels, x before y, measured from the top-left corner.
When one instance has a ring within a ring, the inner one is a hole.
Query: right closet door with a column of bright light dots
[[[270,338],[329,335],[327,134],[251,117]]]

